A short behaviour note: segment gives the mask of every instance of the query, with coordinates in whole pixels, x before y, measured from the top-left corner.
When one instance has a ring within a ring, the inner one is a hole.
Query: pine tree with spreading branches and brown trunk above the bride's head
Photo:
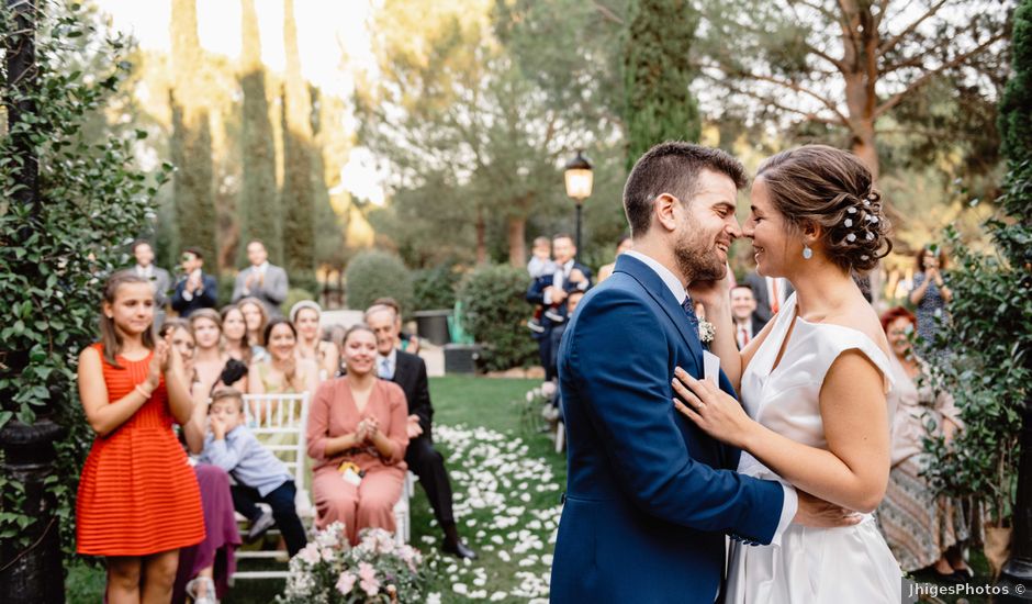
[[[951,70],[1006,48],[1012,2],[704,0],[699,61],[715,110],[835,135],[880,174],[878,124]],[[978,82],[976,82],[978,83]],[[884,124],[883,124],[884,125]]]

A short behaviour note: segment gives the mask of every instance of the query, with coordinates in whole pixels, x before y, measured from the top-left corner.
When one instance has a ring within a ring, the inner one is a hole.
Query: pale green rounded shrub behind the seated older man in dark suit
[[[391,297],[401,304],[402,313],[412,311],[412,273],[393,254],[363,251],[348,262],[344,278],[349,309],[363,311],[373,300]]]

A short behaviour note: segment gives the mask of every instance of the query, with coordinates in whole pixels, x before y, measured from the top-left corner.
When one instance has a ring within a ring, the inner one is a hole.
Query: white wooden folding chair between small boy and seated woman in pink
[[[312,505],[312,499],[309,496],[309,489],[305,483],[305,460],[307,459],[305,426],[309,423],[309,393],[245,394],[244,416],[251,434],[262,440],[265,447],[279,457],[294,477],[294,486],[298,489],[294,506],[301,522],[310,527],[312,519],[315,517],[315,508]],[[274,560],[284,555],[285,552],[277,550],[247,551],[240,549],[236,552],[236,559],[237,561],[248,559]],[[237,571],[233,573],[233,579],[283,579],[287,575],[285,569]]]

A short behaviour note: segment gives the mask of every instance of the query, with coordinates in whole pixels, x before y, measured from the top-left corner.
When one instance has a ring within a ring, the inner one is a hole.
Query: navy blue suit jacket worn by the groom
[[[565,505],[551,601],[713,604],[725,534],[769,544],[784,490],[739,474],[740,451],[674,409],[703,349],[659,275],[627,255],[584,297],[560,347]],[[727,377],[721,388],[733,394]]]

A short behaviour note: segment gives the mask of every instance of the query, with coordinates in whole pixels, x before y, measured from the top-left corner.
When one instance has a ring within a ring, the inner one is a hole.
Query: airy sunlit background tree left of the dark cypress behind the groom
[[[426,13],[418,1],[391,0],[375,15],[381,77],[360,98],[361,142],[391,167],[397,214],[425,216],[437,233],[471,236],[467,249],[478,261],[491,254],[523,266],[528,220],[573,216],[562,163],[575,147],[591,153],[617,138],[601,111],[557,102],[591,96],[596,82],[585,70],[559,79],[531,67],[547,61],[525,44],[531,36],[519,23],[534,10],[528,4],[491,11],[457,0]],[[517,46],[530,54],[514,52]],[[429,210],[440,203],[451,211]],[[459,224],[445,220],[453,214]]]

